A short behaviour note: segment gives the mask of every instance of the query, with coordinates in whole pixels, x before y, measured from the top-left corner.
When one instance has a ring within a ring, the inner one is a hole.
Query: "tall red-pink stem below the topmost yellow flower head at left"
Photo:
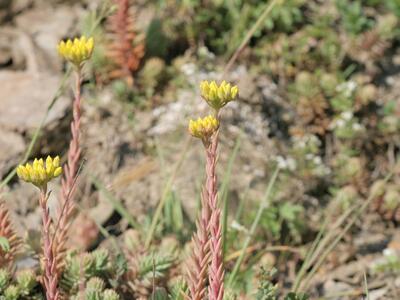
[[[61,203],[58,210],[58,231],[56,234],[57,263],[62,264],[65,243],[74,209],[75,179],[77,176],[80,149],[80,124],[81,124],[81,70],[76,71],[75,99],[72,107],[73,119],[71,122],[71,141],[68,149],[67,163],[64,165],[63,178],[61,179]]]

